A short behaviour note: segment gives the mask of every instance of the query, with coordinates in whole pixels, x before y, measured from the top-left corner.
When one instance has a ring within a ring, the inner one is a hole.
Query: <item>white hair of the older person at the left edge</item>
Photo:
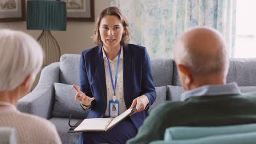
[[[28,75],[34,81],[43,64],[42,47],[30,35],[0,29],[0,91],[11,91]]]

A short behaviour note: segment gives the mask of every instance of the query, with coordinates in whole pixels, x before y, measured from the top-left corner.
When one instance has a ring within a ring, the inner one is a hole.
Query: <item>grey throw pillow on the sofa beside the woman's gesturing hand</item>
[[[75,90],[72,85],[63,83],[54,83],[55,87],[55,103],[53,109],[53,117],[68,118],[72,114],[73,118],[86,118],[89,111],[84,111],[75,101]]]

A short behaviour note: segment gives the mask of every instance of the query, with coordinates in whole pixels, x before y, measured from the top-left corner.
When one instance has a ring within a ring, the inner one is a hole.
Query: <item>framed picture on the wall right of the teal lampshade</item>
[[[67,21],[94,21],[94,0],[60,0],[66,2]]]

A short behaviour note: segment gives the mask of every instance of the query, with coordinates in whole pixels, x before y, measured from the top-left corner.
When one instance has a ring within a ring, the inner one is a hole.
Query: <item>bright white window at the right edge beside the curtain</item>
[[[256,58],[256,1],[236,1],[235,58]]]

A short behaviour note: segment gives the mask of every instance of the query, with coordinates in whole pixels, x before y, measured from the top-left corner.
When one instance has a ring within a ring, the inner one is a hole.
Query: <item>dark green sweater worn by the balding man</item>
[[[217,126],[256,122],[256,93],[191,97],[167,102],[154,109],[135,138],[127,143],[163,140],[165,129],[174,126]]]

